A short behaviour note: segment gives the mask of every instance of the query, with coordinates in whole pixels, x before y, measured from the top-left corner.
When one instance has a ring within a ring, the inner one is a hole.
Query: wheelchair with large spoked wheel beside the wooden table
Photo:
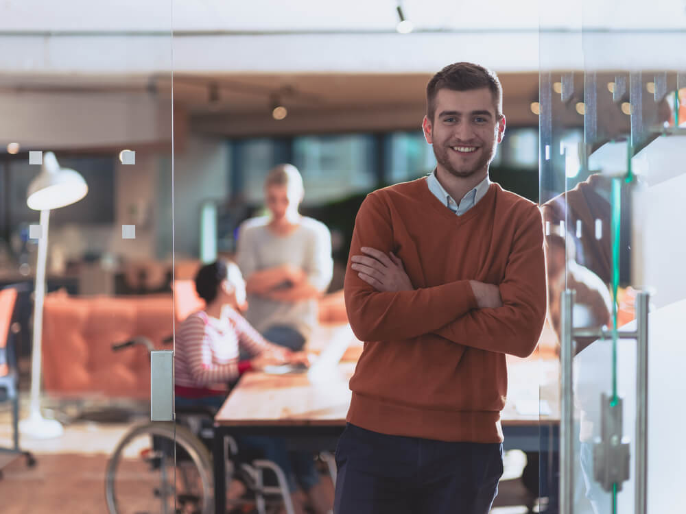
[[[169,343],[171,339],[165,340]],[[143,337],[113,345],[113,351],[143,345]],[[213,409],[204,406],[176,408],[175,423],[150,421],[133,426],[108,459],[105,497],[110,514],[211,514],[214,487],[211,448]],[[242,454],[235,440],[226,437],[224,463],[226,491],[238,479],[246,495],[227,502],[229,513],[270,514],[285,508],[294,514],[285,474],[271,461]],[[329,473],[333,457],[324,454]],[[266,485],[271,478],[276,485]],[[335,477],[334,477],[335,480]],[[224,513],[222,513],[224,514]]]

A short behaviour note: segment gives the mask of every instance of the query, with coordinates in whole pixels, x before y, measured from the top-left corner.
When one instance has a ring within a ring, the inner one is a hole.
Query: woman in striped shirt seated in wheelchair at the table
[[[239,309],[245,307],[246,287],[241,272],[233,262],[217,260],[200,268],[196,275],[196,291],[204,299],[205,308],[187,317],[176,334],[174,344],[174,390],[176,405],[205,405],[220,408],[226,400],[230,382],[246,371],[259,371],[266,365],[307,363],[303,352],[291,352],[266,341],[253,328]],[[239,349],[250,358],[239,359]],[[242,437],[239,445],[259,450],[268,460],[283,470],[291,491],[296,514],[304,514],[305,498],[298,491],[298,482],[318,483],[318,473],[311,456],[289,454],[279,438]],[[296,459],[292,462],[292,459]],[[309,463],[303,466],[303,461]],[[298,474],[293,468],[298,469]],[[245,491],[234,482],[230,498]]]

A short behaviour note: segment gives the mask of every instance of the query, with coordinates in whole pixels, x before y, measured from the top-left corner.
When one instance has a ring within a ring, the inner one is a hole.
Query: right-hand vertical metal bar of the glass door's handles
[[[648,303],[650,295],[636,297],[636,485],[635,512],[648,512]]]

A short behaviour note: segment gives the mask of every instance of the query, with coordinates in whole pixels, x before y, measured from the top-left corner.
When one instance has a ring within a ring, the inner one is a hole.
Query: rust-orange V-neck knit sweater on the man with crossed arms
[[[378,292],[348,259],[346,310],[365,343],[347,420],[389,435],[501,442],[505,354],[530,355],[545,318],[539,208],[494,183],[458,217],[419,179],[366,197],[351,256],[362,246],[394,252],[416,289]],[[498,284],[503,306],[477,308],[470,279]]]

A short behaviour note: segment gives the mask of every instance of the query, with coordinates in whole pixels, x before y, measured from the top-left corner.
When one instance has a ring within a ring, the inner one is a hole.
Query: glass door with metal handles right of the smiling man
[[[668,377],[686,312],[676,229],[686,36],[635,7],[584,3],[573,30],[539,38],[541,208],[560,340],[560,462],[541,467],[551,511],[674,511],[684,478],[670,464],[685,455],[667,399],[685,389]],[[611,12],[622,15],[602,16]]]

